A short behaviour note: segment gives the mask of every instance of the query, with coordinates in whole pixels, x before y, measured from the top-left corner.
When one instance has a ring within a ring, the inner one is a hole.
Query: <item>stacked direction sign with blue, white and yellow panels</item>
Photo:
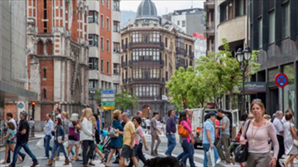
[[[103,110],[115,109],[115,91],[114,90],[102,90],[101,92]]]

